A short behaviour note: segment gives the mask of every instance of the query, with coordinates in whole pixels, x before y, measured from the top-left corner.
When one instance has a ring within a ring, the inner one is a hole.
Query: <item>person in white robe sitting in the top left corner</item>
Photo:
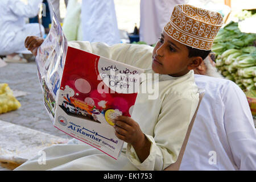
[[[42,0],[28,0],[27,4],[20,0],[0,1],[0,55],[6,56],[5,61],[27,61],[19,56],[19,53],[30,54],[24,40],[29,35],[40,36],[40,28],[38,23],[26,23],[26,18],[38,14],[40,3]],[[41,31],[43,35],[43,26]]]

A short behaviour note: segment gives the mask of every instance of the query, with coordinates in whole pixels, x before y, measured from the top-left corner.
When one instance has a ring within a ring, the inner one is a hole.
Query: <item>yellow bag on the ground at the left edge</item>
[[[19,109],[20,106],[8,84],[0,84],[0,114]]]

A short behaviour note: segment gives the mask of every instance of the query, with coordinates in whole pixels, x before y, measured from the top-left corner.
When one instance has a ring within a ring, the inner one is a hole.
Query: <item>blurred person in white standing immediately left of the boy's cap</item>
[[[141,22],[139,40],[148,45],[158,42],[164,25],[169,22],[175,5],[184,4],[185,0],[141,0]]]

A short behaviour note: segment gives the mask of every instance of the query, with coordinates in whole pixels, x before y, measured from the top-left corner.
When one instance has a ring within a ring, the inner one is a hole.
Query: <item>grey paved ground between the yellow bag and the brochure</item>
[[[0,114],[0,120],[39,130],[44,133],[67,138],[67,135],[53,127],[43,104],[35,62],[9,63],[0,68],[0,82],[9,84],[12,90],[28,92],[18,97],[22,105],[18,110]]]

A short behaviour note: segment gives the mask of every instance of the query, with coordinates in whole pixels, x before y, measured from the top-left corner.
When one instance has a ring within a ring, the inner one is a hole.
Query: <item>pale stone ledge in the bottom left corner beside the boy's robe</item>
[[[65,144],[68,139],[0,120],[0,163],[9,169],[23,164],[52,144]],[[1,168],[0,168],[1,170]]]

